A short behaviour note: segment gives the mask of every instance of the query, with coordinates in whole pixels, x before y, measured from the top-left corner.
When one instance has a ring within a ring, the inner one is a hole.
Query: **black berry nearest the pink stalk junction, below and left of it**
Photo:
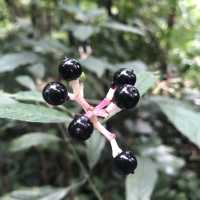
[[[69,135],[77,140],[87,140],[94,130],[90,119],[84,115],[76,116],[69,124]]]

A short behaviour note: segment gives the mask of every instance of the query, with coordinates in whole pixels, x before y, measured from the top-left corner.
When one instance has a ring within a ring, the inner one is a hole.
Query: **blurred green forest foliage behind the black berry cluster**
[[[200,199],[199,25],[197,0],[1,0],[0,199]],[[136,152],[135,175],[112,170],[98,132],[66,137],[79,108],[41,98],[64,56],[86,58],[94,104],[117,69],[135,69],[139,106],[105,122]]]

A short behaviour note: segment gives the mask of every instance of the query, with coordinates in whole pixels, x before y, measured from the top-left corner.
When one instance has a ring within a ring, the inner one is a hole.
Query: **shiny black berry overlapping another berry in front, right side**
[[[119,86],[116,89],[113,97],[113,101],[122,109],[130,109],[135,107],[139,99],[140,94],[137,88],[128,84]]]

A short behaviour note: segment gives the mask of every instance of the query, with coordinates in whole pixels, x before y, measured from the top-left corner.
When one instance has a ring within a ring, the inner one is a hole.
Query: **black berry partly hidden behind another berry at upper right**
[[[130,84],[134,85],[136,82],[136,75],[132,69],[122,68],[115,72],[113,77],[113,84],[115,86]]]

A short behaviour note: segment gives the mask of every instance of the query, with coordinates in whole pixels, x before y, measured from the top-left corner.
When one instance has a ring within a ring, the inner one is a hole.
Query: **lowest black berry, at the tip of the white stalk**
[[[123,151],[114,158],[114,168],[123,175],[133,174],[137,167],[137,159],[133,152]]]

